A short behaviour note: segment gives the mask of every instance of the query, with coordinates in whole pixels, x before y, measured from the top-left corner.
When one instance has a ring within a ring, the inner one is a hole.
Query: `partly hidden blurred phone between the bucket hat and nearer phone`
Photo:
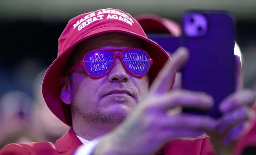
[[[147,34],[147,37],[160,45],[169,54],[173,54],[180,46],[180,38],[170,34]]]

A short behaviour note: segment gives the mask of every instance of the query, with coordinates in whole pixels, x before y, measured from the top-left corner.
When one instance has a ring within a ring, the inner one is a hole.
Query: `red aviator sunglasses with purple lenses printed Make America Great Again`
[[[88,76],[101,78],[109,73],[116,57],[120,58],[125,70],[135,77],[145,76],[153,64],[148,53],[142,49],[95,49],[86,53],[83,60],[70,68],[66,74],[78,66],[83,66]]]

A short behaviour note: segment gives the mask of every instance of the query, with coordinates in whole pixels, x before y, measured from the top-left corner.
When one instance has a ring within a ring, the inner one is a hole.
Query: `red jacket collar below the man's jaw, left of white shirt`
[[[67,152],[67,154],[71,155],[81,145],[82,142],[78,139],[71,127],[64,136],[56,141],[55,147],[59,153]]]

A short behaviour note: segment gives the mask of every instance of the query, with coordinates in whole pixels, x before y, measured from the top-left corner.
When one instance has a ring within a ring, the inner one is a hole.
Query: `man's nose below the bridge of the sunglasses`
[[[130,77],[127,74],[122,62],[117,58],[109,72],[109,82],[128,82]]]

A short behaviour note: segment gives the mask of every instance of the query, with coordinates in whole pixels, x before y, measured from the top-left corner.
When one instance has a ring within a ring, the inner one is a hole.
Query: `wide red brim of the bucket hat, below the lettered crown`
[[[61,55],[59,55],[52,62],[47,72],[45,73],[43,83],[42,83],[42,93],[48,108],[51,110],[52,113],[54,113],[54,115],[56,115],[56,117],[58,117],[66,125],[72,126],[72,117],[71,117],[70,105],[64,104],[60,99],[60,91],[61,91],[60,79],[64,75],[63,71],[65,68],[65,65],[70,55],[72,54],[72,52],[80,42],[92,36],[108,33],[108,32],[120,32],[120,33],[125,33],[132,36],[136,36],[137,38],[140,38],[145,48],[145,51],[147,51],[151,59],[153,59],[153,64],[148,72],[149,84],[151,84],[152,81],[155,79],[158,72],[164,66],[165,62],[168,59],[171,59],[169,55],[155,42],[123,27],[119,27],[119,26],[107,26],[107,28],[101,27],[89,32],[85,36],[82,36],[78,40],[78,42],[72,44],[68,49],[66,49]]]

